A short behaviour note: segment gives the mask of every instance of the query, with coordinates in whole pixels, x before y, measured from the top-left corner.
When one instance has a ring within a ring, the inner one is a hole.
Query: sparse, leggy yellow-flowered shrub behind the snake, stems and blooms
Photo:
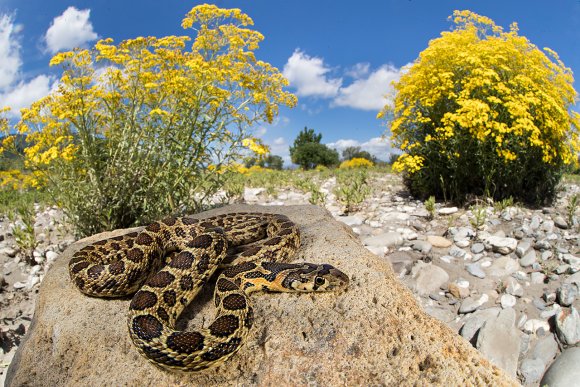
[[[263,36],[252,24],[239,9],[200,5],[182,22],[192,43],[105,39],[52,58],[64,70],[58,89],[23,109],[16,129],[30,144],[25,166],[79,234],[199,211],[222,166],[247,148],[267,152],[249,128],[296,98],[255,58]]]

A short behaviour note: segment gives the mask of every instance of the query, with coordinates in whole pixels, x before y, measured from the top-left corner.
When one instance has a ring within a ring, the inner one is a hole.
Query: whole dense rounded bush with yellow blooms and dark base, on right
[[[396,84],[394,108],[379,113],[405,152],[393,170],[422,198],[550,202],[580,150],[572,72],[515,24],[504,32],[469,11],[454,22]]]

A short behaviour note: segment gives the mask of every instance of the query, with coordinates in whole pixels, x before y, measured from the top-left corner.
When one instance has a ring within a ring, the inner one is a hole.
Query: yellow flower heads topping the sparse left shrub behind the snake
[[[196,33],[193,44],[188,36],[118,44],[109,38],[94,48],[56,54],[50,65],[63,69],[57,90],[23,109],[16,127],[31,144],[26,167],[64,173],[53,166],[79,156],[79,165],[66,171],[98,181],[96,168],[105,156],[136,160],[138,152],[161,152],[157,160],[179,154],[199,166],[203,162],[189,152],[204,160],[233,157],[243,148],[266,155],[268,147],[248,137],[248,128],[272,122],[280,105],[294,107],[297,100],[284,91],[288,81],[278,69],[256,60],[253,51],[264,37],[244,28],[251,25],[239,9],[204,4],[182,22]],[[111,144],[120,148],[99,148]]]

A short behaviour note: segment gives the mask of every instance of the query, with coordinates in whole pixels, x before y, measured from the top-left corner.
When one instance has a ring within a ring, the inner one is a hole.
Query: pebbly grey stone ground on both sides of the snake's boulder
[[[523,384],[573,384],[580,377],[580,234],[565,185],[553,207],[528,209],[480,202],[471,209],[425,204],[398,178],[375,175],[373,195],[344,215],[321,184],[325,207],[359,235],[432,316],[444,321]],[[246,188],[249,204],[307,204],[310,194]],[[0,222],[0,382],[25,334],[44,273],[73,238],[54,208],[36,209],[39,245],[30,258],[13,237],[18,223]],[[578,211],[576,212],[576,219]],[[542,379],[543,378],[543,379]]]

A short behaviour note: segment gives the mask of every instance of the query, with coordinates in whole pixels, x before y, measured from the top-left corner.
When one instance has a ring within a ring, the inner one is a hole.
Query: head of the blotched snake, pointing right
[[[284,287],[298,292],[331,292],[346,289],[349,279],[334,266],[304,263],[291,270],[282,282]]]

